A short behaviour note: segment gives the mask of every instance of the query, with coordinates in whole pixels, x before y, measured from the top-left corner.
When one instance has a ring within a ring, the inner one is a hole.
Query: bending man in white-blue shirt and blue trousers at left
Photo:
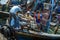
[[[19,17],[18,17],[18,13],[21,12],[21,8],[19,6],[13,6],[10,9],[10,26],[14,26],[14,27],[19,27]]]

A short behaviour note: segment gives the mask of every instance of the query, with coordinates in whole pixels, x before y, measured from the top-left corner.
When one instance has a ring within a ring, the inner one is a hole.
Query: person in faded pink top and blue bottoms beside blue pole
[[[43,32],[48,32],[50,28],[50,10],[49,8],[44,9],[45,13],[43,13],[43,18],[42,18],[42,31]]]

